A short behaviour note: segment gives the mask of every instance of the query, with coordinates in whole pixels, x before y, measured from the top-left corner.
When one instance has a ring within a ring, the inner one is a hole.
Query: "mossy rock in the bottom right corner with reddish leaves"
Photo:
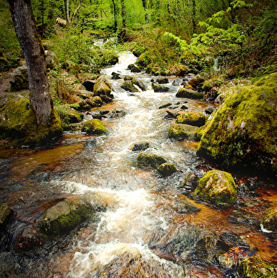
[[[275,278],[277,265],[273,262],[265,262],[259,257],[249,257],[239,263],[237,274],[240,278]]]

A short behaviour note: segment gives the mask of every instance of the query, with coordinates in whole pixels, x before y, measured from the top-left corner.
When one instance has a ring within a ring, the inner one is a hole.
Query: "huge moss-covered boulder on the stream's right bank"
[[[197,155],[223,167],[277,172],[277,73],[239,89],[212,115]]]

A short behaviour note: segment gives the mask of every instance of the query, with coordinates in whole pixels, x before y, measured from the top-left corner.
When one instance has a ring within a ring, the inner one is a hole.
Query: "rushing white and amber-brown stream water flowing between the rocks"
[[[213,104],[176,99],[181,87],[172,84],[180,81],[176,77],[166,84],[169,92],[154,93],[150,81],[157,77],[126,70],[135,59],[123,53],[117,65],[102,72],[109,79],[112,72],[131,75],[147,86],[147,91],[130,94],[120,88],[123,79],[111,80],[113,102],[91,111],[125,109],[122,118],[103,119],[108,135],[67,132],[53,148],[0,151],[0,201],[17,213],[2,233],[2,277],[231,277],[218,265],[193,257],[204,235],[225,232],[245,240],[263,260],[277,261],[276,241],[259,228],[277,201],[274,181],[234,173],[239,197],[225,211],[194,199],[193,188],[179,187],[187,174],[202,177],[211,168],[196,157],[198,143],[169,140],[174,120],[166,120],[166,109],[159,106],[171,103],[174,109],[188,101],[188,111],[205,111]],[[84,121],[89,118],[91,113],[86,113]],[[142,141],[149,143],[147,152],[173,162],[178,171],[162,178],[156,169],[137,167],[138,152],[131,147]],[[13,251],[23,228],[72,194],[101,200],[106,211],[98,213],[98,221],[88,221],[42,248]],[[195,209],[186,211],[187,203]]]

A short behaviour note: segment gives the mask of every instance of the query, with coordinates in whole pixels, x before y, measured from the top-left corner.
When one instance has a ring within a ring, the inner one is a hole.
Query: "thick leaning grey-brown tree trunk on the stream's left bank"
[[[35,25],[30,0],[8,0],[13,25],[23,50],[28,70],[30,104],[38,125],[50,122],[52,101],[47,81],[43,45]]]

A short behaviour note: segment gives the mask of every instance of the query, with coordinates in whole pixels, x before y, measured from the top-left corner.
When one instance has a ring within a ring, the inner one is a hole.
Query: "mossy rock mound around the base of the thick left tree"
[[[9,139],[9,146],[40,145],[60,135],[62,126],[55,109],[47,126],[38,126],[29,99],[21,95],[9,99],[0,109],[0,138]]]

